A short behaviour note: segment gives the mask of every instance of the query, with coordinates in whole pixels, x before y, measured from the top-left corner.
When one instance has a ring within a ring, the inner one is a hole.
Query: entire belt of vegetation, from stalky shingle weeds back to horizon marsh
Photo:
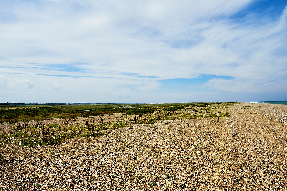
[[[0,145],[10,144],[20,138],[19,145],[53,145],[73,137],[98,137],[103,130],[119,129],[132,123],[165,123],[162,120],[195,119],[205,117],[230,117],[225,109],[235,103],[163,103],[163,104],[93,104],[93,105],[25,105],[23,108],[0,109],[0,124],[14,123],[13,133],[1,134]],[[123,106],[133,106],[125,107]],[[136,106],[136,108],[135,108]],[[7,106],[5,106],[7,107]],[[10,107],[10,106],[9,106]],[[15,106],[16,107],[16,106]],[[17,105],[17,107],[20,107]],[[24,108],[25,107],[25,108]],[[3,107],[2,107],[3,108]],[[90,111],[85,111],[89,110]],[[117,114],[119,113],[119,114]],[[109,114],[109,115],[103,115]],[[110,118],[110,114],[114,115]],[[98,121],[92,119],[94,115]],[[88,117],[91,116],[91,117]],[[15,118],[9,118],[15,117]],[[78,117],[87,118],[80,124]],[[63,124],[42,125],[41,120],[64,118]],[[20,121],[24,122],[20,122]],[[153,128],[153,127],[152,127]],[[120,139],[120,138],[119,138]]]

